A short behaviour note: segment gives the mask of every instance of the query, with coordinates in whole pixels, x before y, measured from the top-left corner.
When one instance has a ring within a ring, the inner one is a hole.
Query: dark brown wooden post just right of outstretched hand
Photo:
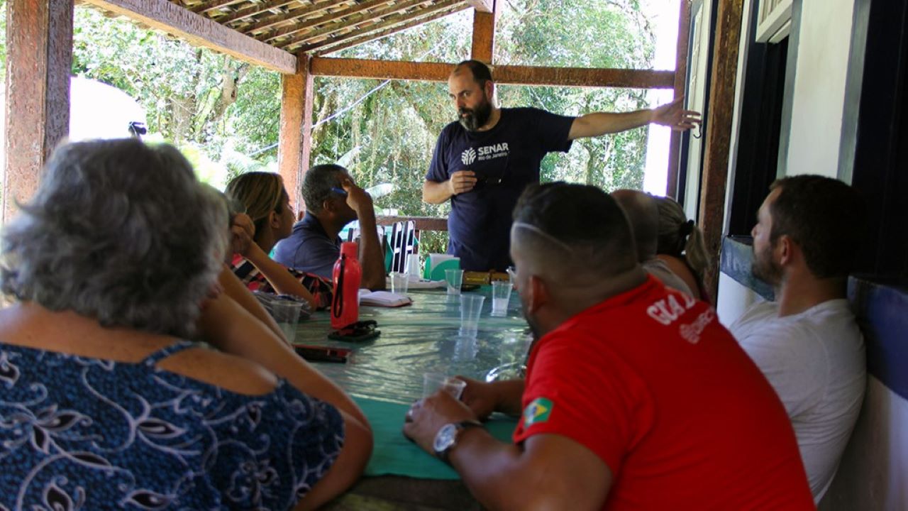
[[[707,106],[706,155],[698,222],[703,229],[706,252],[716,263],[722,247],[743,3],[743,0],[720,0],[716,13],[716,42],[713,45],[712,86]],[[716,296],[718,290],[718,272],[718,264],[714,264],[704,277],[704,285],[711,296]]]

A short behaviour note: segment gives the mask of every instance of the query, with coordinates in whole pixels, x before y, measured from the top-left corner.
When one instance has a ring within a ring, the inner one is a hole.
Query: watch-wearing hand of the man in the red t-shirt
[[[439,390],[432,396],[420,399],[407,412],[404,417],[403,434],[416,442],[429,454],[434,455],[432,443],[435,435],[449,423],[458,423],[465,420],[477,420],[473,412],[463,403],[449,395],[444,390]]]

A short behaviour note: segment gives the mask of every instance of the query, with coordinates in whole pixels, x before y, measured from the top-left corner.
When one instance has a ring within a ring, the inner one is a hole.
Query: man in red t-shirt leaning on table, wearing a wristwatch
[[[511,255],[537,336],[524,381],[414,404],[404,434],[492,509],[812,509],[785,408],[703,302],[637,264],[593,186],[531,186]],[[478,418],[522,414],[513,444]]]

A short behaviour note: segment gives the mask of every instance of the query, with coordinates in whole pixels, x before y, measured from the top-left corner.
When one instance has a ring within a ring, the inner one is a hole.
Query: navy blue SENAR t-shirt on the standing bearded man
[[[448,253],[471,271],[510,266],[511,214],[523,189],[539,182],[539,165],[551,151],[567,153],[574,117],[538,108],[502,108],[489,131],[470,132],[453,122],[439,135],[426,180],[440,183],[459,170],[476,173],[476,187],[451,197]]]

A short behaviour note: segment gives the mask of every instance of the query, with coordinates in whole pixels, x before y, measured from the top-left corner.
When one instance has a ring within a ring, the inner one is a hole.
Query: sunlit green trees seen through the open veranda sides
[[[652,67],[655,37],[639,0],[499,2],[498,63]],[[458,62],[469,58],[471,29],[472,11],[466,10],[331,56]],[[148,114],[149,131],[183,148],[214,184],[275,167],[280,75],[82,5],[75,10],[73,72],[135,97]],[[640,90],[508,85],[498,86],[498,102],[564,115],[646,106]],[[316,78],[312,163],[342,161],[360,185],[392,184],[376,199],[380,208],[445,216],[449,205],[424,204],[421,188],[436,137],[454,119],[446,84]],[[542,179],[639,188],[646,134],[640,128],[578,140],[567,155],[546,157]],[[423,240],[434,251],[446,243],[447,233]]]

